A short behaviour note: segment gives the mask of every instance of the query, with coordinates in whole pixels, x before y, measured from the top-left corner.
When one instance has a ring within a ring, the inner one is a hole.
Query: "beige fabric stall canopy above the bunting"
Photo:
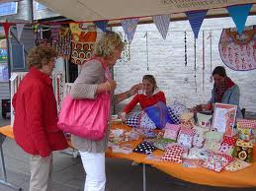
[[[151,16],[170,14],[171,20],[186,19],[185,12],[209,10],[207,18],[228,16],[226,7],[254,4],[256,0],[37,0],[53,12],[77,22],[139,18],[150,22]],[[256,14],[253,5],[250,15]]]

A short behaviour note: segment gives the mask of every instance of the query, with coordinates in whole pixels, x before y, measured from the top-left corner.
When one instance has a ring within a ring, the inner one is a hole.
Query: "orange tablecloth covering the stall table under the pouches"
[[[122,128],[126,130],[130,129],[126,125],[112,125],[112,128]],[[7,137],[14,138],[11,126],[1,127],[0,133],[6,135]],[[135,147],[140,142],[141,140],[138,140],[134,142],[129,142],[128,144]],[[161,155],[162,152],[156,151],[154,152],[154,154]],[[106,153],[106,156],[109,158],[130,159],[137,162],[151,164],[152,166],[185,181],[221,187],[256,187],[256,147],[254,147],[253,155],[254,162],[250,167],[247,167],[237,172],[222,171],[220,173],[216,173],[203,167],[189,168],[184,167],[182,164],[179,163],[149,160],[145,159],[146,156],[135,153],[131,153],[129,155],[117,154],[112,153],[110,150]]]

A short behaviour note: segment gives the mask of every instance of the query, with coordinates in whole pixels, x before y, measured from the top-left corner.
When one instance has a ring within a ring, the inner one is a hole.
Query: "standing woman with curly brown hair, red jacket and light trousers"
[[[30,191],[51,190],[52,152],[68,147],[57,128],[57,109],[52,80],[57,52],[38,46],[28,56],[29,73],[13,97],[16,143],[31,155]]]

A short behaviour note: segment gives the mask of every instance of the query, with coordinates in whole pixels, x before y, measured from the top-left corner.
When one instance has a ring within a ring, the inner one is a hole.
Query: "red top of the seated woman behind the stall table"
[[[159,91],[157,94],[153,96],[136,95],[128,103],[124,111],[128,114],[136,106],[137,103],[140,104],[141,109],[144,109],[147,106],[152,106],[156,104],[158,101],[162,101],[166,103],[166,98],[164,96],[164,93],[161,91]]]

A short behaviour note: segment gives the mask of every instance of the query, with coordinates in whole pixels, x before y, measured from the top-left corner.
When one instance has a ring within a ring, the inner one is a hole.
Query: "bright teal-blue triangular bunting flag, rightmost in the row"
[[[230,6],[226,8],[239,34],[243,32],[243,29],[251,8],[252,8],[252,4]]]

